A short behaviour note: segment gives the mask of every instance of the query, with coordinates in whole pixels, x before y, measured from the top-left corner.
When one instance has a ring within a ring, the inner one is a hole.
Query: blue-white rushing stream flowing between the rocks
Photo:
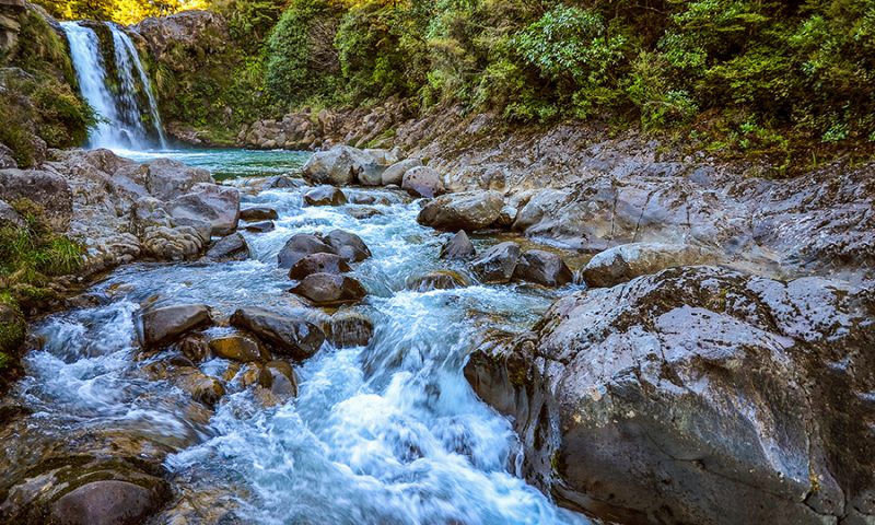
[[[277,173],[305,160],[279,152],[201,153],[173,156],[225,176]],[[242,523],[583,522],[512,474],[521,457],[510,423],[477,399],[462,373],[478,330],[525,329],[568,290],[408,291],[410,276],[448,266],[438,259],[446,236],[417,223],[419,205],[406,195],[348,189],[381,202],[369,206],[378,214],[359,220],[350,211],[363,206],[303,207],[305,187],[256,192],[245,178],[229,184],[243,189],[244,208],[268,206],[280,214],[275,231],[245,233],[253,259],[127,266],[90,291],[105,298],[102,304],[44,319],[34,329],[27,378],[18,387],[35,411],[34,424],[58,439],[112,429],[161,443],[173,452],[165,466],[177,490],[191,494],[190,506],[209,501],[201,504],[212,509],[201,512],[226,511]],[[144,354],[137,348],[142,304],[205,303],[217,318],[247,305],[290,311],[278,252],[295,233],[334,229],[357,233],[373,252],[353,272],[370,292],[354,306],[375,326],[368,347],[339,350],[326,342],[298,368],[298,398],[279,406],[242,387],[241,374],[221,359],[200,365],[233,377],[214,413],[150,375],[173,350]],[[478,249],[495,242],[475,240]],[[222,495],[202,499],[217,491]]]

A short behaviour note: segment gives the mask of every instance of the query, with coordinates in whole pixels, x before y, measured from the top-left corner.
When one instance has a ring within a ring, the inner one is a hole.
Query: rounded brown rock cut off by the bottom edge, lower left
[[[143,523],[164,503],[167,490],[159,480],[143,487],[121,480],[82,485],[51,505],[50,523],[58,525],[135,525]]]

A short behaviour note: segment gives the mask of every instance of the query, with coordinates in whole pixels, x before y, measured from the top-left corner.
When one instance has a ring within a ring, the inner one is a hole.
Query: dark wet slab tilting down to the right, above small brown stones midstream
[[[301,360],[313,357],[325,341],[323,331],[312,323],[262,308],[237,310],[231,316],[231,325],[253,332],[278,352]]]

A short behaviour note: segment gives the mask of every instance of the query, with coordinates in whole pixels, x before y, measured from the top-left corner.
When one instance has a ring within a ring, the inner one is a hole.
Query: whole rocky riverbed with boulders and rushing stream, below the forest
[[[872,167],[552,133],[0,171],[121,265],[34,319],[2,515],[871,521]]]

